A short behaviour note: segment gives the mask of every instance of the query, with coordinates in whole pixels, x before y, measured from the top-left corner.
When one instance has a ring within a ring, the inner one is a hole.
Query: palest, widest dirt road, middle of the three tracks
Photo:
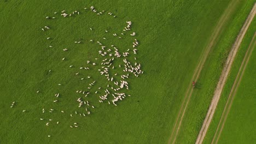
[[[224,87],[226,79],[228,77],[232,62],[234,61],[234,58],[236,56],[236,52],[238,50],[238,47],[240,46],[240,44],[242,42],[242,39],[245,36],[245,33],[246,33],[249,25],[251,24],[252,20],[253,20],[255,12],[256,12],[256,4],[254,4],[253,9],[251,10],[251,13],[247,17],[245,23],[243,24],[243,27],[242,27],[240,33],[238,34],[238,36],[236,38],[236,41],[235,41],[234,45],[231,48],[231,51],[229,53],[228,59],[227,59],[226,64],[225,64],[225,67],[223,68],[222,75],[220,76],[218,85],[217,85],[216,90],[214,92],[213,99],[212,99],[211,105],[208,109],[205,121],[203,122],[203,125],[202,125],[202,128],[200,130],[199,135],[197,136],[196,143],[202,143],[203,139],[205,138],[207,129],[208,129],[208,127],[209,127],[209,125],[212,121],[213,114],[216,110],[220,94],[222,93],[223,87]]]

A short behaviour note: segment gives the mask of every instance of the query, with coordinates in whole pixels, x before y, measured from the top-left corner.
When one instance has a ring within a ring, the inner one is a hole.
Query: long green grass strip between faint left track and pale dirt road
[[[202,69],[198,83],[191,97],[188,110],[185,113],[181,132],[178,135],[177,143],[194,143],[202,127],[208,107],[212,100],[213,92],[217,86],[219,76],[222,73],[225,59],[229,50],[239,33],[243,22],[246,20],[254,2],[240,1],[234,13],[231,14],[229,22],[223,28],[216,46],[214,46],[208,57],[205,67]],[[248,41],[247,41],[248,42]]]

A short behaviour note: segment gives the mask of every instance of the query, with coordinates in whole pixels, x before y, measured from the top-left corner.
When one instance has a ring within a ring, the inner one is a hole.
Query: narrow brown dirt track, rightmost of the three
[[[256,45],[256,33],[254,33],[254,36],[253,36],[253,39],[251,41],[251,44],[249,45],[247,51],[246,51],[246,55],[245,55],[245,58],[243,58],[243,62],[241,64],[241,67],[238,71],[238,74],[236,76],[236,80],[234,82],[234,85],[232,86],[232,89],[229,93],[229,97],[228,97],[228,100],[226,101],[226,105],[225,105],[225,108],[224,108],[224,111],[222,113],[222,117],[220,118],[220,121],[219,121],[219,124],[218,124],[218,128],[214,134],[214,137],[213,137],[213,140],[212,140],[212,143],[218,143],[218,140],[219,140],[219,137],[220,137],[220,134],[222,133],[222,130],[223,130],[223,127],[225,125],[225,122],[226,122],[226,118],[228,117],[228,114],[229,114],[229,111],[231,109],[231,105],[234,101],[234,97],[236,95],[236,92],[237,92],[237,88],[238,86],[240,85],[240,82],[241,82],[241,79],[242,79],[242,76],[243,76],[243,73],[245,72],[245,69],[246,69],[246,66],[248,64],[248,61],[249,61],[249,58],[251,57],[252,55],[252,51]],[[220,127],[221,125],[221,127]],[[220,128],[220,130],[219,130]],[[218,133],[218,130],[219,130],[219,133]],[[217,136],[218,134],[218,136]],[[217,136],[217,139],[216,139],[216,136]],[[214,141],[216,140],[216,141]]]

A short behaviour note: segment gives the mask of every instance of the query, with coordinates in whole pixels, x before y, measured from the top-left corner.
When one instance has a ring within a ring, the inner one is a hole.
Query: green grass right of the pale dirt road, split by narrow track
[[[223,89],[222,96],[219,100],[216,113],[203,143],[211,143],[216,133],[220,117],[222,116],[224,106],[228,99],[231,87],[235,82],[236,75],[241,66],[245,53],[252,41],[255,33],[256,19],[252,21],[245,38],[242,41],[240,49],[232,65],[230,75]],[[255,141],[255,49],[252,52],[249,62],[245,68],[245,73],[242,76],[241,83],[237,88],[237,93],[234,95],[234,101],[231,105],[230,112],[225,121],[225,125],[218,140],[218,143],[253,143]],[[218,134],[218,133],[217,133]]]

